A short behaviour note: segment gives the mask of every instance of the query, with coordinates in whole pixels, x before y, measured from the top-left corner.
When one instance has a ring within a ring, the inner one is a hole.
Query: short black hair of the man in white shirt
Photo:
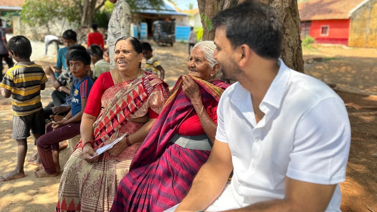
[[[246,44],[260,57],[277,59],[280,56],[283,24],[269,5],[246,0],[220,11],[212,18],[212,25],[225,27],[233,48]]]

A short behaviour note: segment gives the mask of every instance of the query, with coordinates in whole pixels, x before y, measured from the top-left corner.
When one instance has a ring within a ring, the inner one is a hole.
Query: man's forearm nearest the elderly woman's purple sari
[[[207,161],[196,175],[189,194],[175,210],[204,210],[221,194],[232,167],[224,166],[216,161]]]

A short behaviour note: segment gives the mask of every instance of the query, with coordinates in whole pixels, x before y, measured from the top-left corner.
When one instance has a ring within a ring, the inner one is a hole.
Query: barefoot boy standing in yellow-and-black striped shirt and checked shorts
[[[47,77],[41,66],[30,61],[32,49],[28,38],[21,35],[12,37],[8,49],[17,63],[6,72],[0,90],[5,98],[12,97],[12,138],[17,141],[17,165],[14,171],[0,177],[0,182],[25,176],[26,138],[30,136],[30,130],[36,140],[44,134],[40,92],[46,87]]]

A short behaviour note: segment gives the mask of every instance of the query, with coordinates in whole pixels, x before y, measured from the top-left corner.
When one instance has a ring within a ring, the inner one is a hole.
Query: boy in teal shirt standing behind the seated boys
[[[61,74],[61,71],[63,69],[67,68],[66,58],[65,58],[65,55],[67,53],[67,48],[77,43],[77,34],[72,29],[68,29],[67,31],[63,32],[62,37],[63,37],[63,45],[65,47],[59,49],[58,51],[58,58],[54,66],[56,78],[58,78],[58,76]]]

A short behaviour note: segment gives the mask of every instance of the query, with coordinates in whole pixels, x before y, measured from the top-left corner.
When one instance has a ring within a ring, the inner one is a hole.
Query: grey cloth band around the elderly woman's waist
[[[187,149],[197,149],[197,150],[204,150],[204,151],[211,151],[212,150],[212,142],[210,138],[208,138],[207,134],[202,135],[180,135],[175,134],[170,143],[178,144],[179,146]]]

